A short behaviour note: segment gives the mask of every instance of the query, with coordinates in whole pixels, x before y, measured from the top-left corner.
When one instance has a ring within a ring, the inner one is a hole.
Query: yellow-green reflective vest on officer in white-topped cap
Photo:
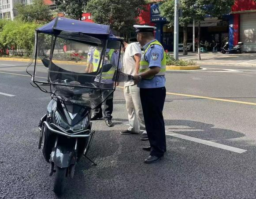
[[[145,55],[148,52],[148,49],[152,47],[152,45],[160,45],[163,48],[162,44],[159,41],[157,41],[157,40],[151,42],[148,45],[148,48],[146,48],[145,52],[141,56],[139,73],[143,73],[143,72],[145,72],[147,70],[150,70],[150,68],[148,67],[149,63],[148,63],[148,61],[146,61]],[[161,69],[160,69],[159,73],[156,74],[156,76],[165,75],[165,71],[166,71],[166,55],[165,55],[165,52],[163,51],[163,59],[161,60]],[[153,77],[154,76],[148,77],[148,78],[145,78],[145,79],[152,79]]]

